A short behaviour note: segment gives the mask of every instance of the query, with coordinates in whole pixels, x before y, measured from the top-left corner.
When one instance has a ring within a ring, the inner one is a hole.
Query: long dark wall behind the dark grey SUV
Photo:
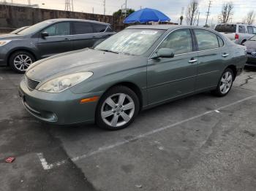
[[[53,18],[79,18],[110,23],[116,31],[125,28],[124,18],[112,15],[96,15],[83,12],[66,12],[53,9],[38,9],[0,4],[0,32],[12,31],[22,26],[31,26]]]

